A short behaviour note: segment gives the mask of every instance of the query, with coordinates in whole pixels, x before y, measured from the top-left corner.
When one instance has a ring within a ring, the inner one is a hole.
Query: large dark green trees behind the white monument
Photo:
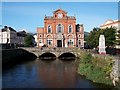
[[[110,27],[105,29],[93,28],[87,38],[87,44],[91,48],[96,48],[99,45],[99,37],[101,34],[105,36],[106,46],[115,46],[115,33],[116,28]]]

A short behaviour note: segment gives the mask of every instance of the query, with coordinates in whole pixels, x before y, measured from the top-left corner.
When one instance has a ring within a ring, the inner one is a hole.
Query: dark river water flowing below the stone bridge
[[[3,88],[107,88],[77,74],[76,60],[33,60],[3,69]],[[110,89],[109,89],[110,90]]]

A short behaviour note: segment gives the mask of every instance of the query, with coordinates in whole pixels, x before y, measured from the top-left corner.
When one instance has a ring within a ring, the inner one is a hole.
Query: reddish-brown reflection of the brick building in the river
[[[37,71],[40,79],[48,88],[75,87],[76,69],[75,64],[67,63],[44,63]]]

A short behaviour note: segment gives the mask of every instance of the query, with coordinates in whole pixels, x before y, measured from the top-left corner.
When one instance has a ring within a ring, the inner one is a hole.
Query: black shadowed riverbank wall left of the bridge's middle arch
[[[2,64],[11,64],[17,62],[23,62],[33,60],[36,56],[23,49],[6,49],[1,50],[2,53]]]

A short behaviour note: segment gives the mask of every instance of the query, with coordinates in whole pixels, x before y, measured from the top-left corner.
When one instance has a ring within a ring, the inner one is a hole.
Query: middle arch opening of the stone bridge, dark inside
[[[39,56],[40,59],[52,59],[55,60],[57,57],[54,53],[44,52]]]

